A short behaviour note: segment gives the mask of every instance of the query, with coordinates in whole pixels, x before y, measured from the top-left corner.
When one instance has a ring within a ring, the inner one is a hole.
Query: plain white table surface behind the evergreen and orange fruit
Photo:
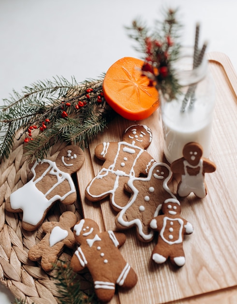
[[[139,57],[124,26],[137,17],[152,25],[167,7],[179,7],[184,44],[200,22],[207,51],[227,54],[237,70],[236,0],[0,0],[0,105],[13,88],[57,75],[97,78],[118,59]],[[0,303],[13,301],[0,284]]]

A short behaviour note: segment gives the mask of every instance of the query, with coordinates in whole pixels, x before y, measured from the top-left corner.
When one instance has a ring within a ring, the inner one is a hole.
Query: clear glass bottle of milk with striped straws
[[[160,93],[164,136],[164,155],[172,163],[182,157],[186,143],[197,142],[208,158],[215,105],[215,87],[204,57],[193,68],[193,49],[185,48],[175,64],[181,94],[169,100]]]

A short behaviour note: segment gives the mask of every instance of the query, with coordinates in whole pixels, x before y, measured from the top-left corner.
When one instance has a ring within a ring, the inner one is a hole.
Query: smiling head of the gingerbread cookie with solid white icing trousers
[[[78,146],[71,145],[61,150],[56,159],[56,164],[63,172],[72,174],[81,168],[84,158],[82,149]]]

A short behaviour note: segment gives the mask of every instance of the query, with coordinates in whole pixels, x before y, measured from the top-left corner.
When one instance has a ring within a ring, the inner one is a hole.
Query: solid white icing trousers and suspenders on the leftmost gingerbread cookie
[[[69,173],[59,170],[56,163],[51,160],[44,159],[41,164],[42,163],[49,164],[48,168],[45,169],[42,175],[33,181],[36,176],[35,167],[39,165],[39,163],[36,161],[31,168],[33,178],[27,184],[17,189],[10,195],[11,208],[21,209],[23,211],[23,221],[31,225],[37,225],[39,221],[42,220],[45,211],[51,206],[52,203],[57,200],[63,201],[67,196],[76,191],[74,182]],[[44,194],[39,189],[37,189],[36,184],[40,182],[47,173],[49,175],[56,176],[57,182]],[[47,195],[65,180],[70,186],[70,191],[62,196],[57,194],[48,200],[46,198]]]

